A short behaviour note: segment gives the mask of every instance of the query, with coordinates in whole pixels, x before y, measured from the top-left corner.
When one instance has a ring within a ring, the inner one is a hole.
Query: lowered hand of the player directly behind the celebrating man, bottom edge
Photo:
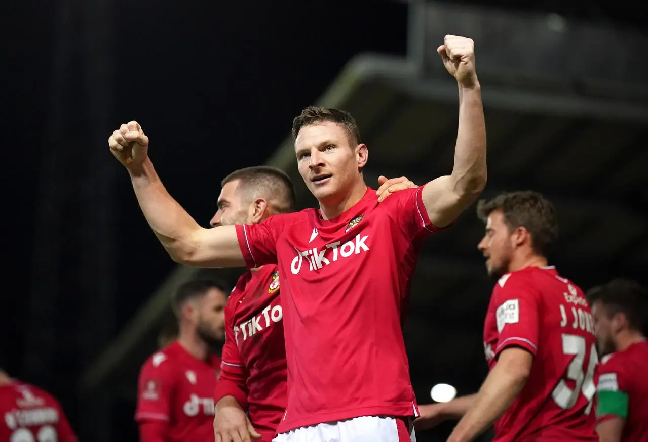
[[[260,437],[234,398],[218,401],[214,417],[215,442],[250,442]]]

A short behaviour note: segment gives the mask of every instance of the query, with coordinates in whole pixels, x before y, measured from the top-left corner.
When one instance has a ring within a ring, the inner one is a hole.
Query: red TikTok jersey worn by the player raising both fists
[[[364,415],[417,415],[402,326],[422,239],[435,227],[420,188],[339,217],[319,210],[237,226],[249,267],[277,263],[288,406],[277,428]]]

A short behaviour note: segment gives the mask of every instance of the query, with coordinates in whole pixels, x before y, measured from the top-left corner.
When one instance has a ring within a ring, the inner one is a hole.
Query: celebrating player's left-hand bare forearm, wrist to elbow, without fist
[[[129,173],[139,206],[157,239],[174,261],[184,261],[196,247],[192,235],[202,227],[169,195],[150,160]]]

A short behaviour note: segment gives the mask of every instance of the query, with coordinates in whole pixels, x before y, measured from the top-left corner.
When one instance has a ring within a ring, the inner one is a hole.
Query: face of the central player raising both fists
[[[308,190],[321,204],[339,204],[362,179],[367,146],[351,146],[347,132],[333,122],[302,127],[295,140],[297,167]]]

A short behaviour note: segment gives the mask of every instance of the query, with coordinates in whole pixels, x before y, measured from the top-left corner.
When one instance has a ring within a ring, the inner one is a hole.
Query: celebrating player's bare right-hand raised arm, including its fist
[[[486,186],[486,127],[480,83],[469,38],[445,36],[437,49],[459,87],[459,128],[452,173],[428,182],[422,201],[436,227],[445,227],[474,203]]]

